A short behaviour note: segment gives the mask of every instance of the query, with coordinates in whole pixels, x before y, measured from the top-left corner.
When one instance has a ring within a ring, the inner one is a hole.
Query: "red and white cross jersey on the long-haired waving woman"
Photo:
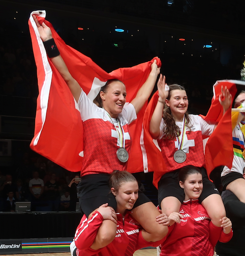
[[[186,127],[184,145],[182,149],[186,154],[186,160],[183,163],[177,163],[174,160],[174,153],[178,150],[177,139],[163,139],[163,129],[165,127],[165,123],[163,119],[161,120],[161,132],[157,142],[161,149],[168,172],[174,171],[189,164],[197,167],[203,167],[205,165],[202,135],[210,136],[214,131],[214,125],[208,124],[203,118],[197,115],[189,115],[189,119],[191,131]],[[180,130],[182,130],[182,122],[176,122],[176,125],[180,128]]]

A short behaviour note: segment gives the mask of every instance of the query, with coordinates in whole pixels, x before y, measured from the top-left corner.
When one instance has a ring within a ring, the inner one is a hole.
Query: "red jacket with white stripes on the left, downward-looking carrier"
[[[99,212],[95,212],[90,219],[84,215],[77,227],[74,242],[77,247],[77,256],[133,256],[133,253],[143,247],[157,246],[160,242],[147,242],[142,237],[138,224],[129,213],[122,218],[117,213],[118,224],[115,239],[106,247],[99,250],[91,249],[91,245],[96,237],[98,228],[103,222],[103,217]]]

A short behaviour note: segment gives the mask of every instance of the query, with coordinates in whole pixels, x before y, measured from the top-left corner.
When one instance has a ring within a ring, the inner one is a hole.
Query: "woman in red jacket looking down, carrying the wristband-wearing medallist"
[[[133,253],[147,246],[157,246],[159,242],[147,242],[147,232],[141,230],[141,226],[131,216],[131,209],[138,199],[139,186],[135,177],[126,171],[114,171],[110,178],[111,193],[117,201],[117,210],[111,210],[108,204],[101,205],[92,217],[87,219],[84,215],[77,227],[74,241],[71,243],[71,255],[95,255],[95,256],[132,256]],[[117,235],[108,246],[93,250],[96,247],[97,231],[103,220],[117,219]],[[168,224],[165,216],[161,218],[162,223]]]

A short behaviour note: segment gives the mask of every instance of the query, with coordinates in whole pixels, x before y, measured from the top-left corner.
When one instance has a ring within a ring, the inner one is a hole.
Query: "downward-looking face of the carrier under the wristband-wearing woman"
[[[124,215],[126,210],[131,210],[138,199],[138,191],[137,181],[122,183],[118,191],[112,188],[111,192],[115,195],[117,201],[117,212]]]

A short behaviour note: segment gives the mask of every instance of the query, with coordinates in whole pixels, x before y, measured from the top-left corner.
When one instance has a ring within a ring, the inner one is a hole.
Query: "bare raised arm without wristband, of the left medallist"
[[[156,78],[160,73],[160,67],[157,67],[156,60],[154,60],[153,64],[151,65],[151,68],[152,70],[146,82],[142,85],[135,98],[130,102],[133,104],[136,113],[138,113],[141,110],[141,108],[144,106],[144,104],[150,97],[155,85]]]

